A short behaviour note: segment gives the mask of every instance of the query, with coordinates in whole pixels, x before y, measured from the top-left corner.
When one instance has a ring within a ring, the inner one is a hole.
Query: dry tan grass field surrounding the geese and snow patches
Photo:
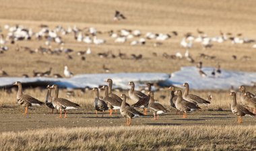
[[[50,28],[56,26],[77,26],[77,28],[94,27],[99,38],[106,44],[94,45],[76,42],[73,34],[63,36],[64,48],[71,48],[73,59],[67,54],[30,54],[24,50],[28,47],[35,50],[44,45],[44,40],[17,41],[7,43],[9,50],[0,53],[0,67],[10,77],[21,77],[32,71],[45,71],[50,67],[53,73],[63,75],[64,66],[69,66],[74,74],[103,73],[102,65],[110,68],[110,72],[166,72],[172,73],[181,66],[195,66],[202,61],[203,66],[216,66],[218,63],[227,70],[256,71],[256,53],[252,44],[214,43],[210,49],[204,50],[201,44],[193,44],[189,49],[195,63],[184,59],[166,59],[162,54],[184,54],[186,49],[180,42],[187,32],[197,36],[197,29],[203,30],[208,36],[219,36],[220,31],[242,33],[243,38],[256,39],[256,3],[249,1],[82,1],[82,0],[0,0],[0,29],[5,24],[22,25],[33,32],[40,30],[45,24]],[[125,14],[127,19],[113,21],[115,10]],[[110,30],[140,30],[146,32],[171,34],[177,31],[178,36],[162,42],[154,47],[156,40],[148,40],[143,46],[130,46],[131,40],[117,44],[108,36]],[[3,30],[1,34],[6,35]],[[53,44],[52,49],[60,48]],[[20,48],[17,51],[17,48]],[[91,48],[92,54],[81,60],[76,52]],[[99,52],[126,53],[127,58],[99,58]],[[152,55],[156,53],[157,56]],[[204,53],[216,56],[214,59],[201,58]],[[131,54],[142,54],[143,58],[134,60]],[[236,55],[234,60],[232,55]],[[245,59],[247,58],[247,59]],[[115,83],[115,81],[114,81]],[[104,82],[102,81],[102,84]],[[236,88],[237,89],[237,88]],[[249,87],[255,91],[255,87]],[[59,97],[65,97],[67,90],[61,89]],[[25,89],[28,95],[44,101],[46,89]],[[176,115],[168,102],[169,91],[156,92],[155,98],[170,113],[160,116],[159,121],[152,121],[152,114],[134,119],[135,126],[124,126],[125,119],[119,113],[112,117],[96,118],[93,110],[94,93],[85,94],[75,90],[71,101],[79,103],[82,109],[71,111],[67,119],[57,119],[56,114],[49,114],[46,107],[32,107],[26,118],[24,108],[15,101],[16,92],[7,93],[0,90],[0,150],[256,150],[255,118],[245,117],[244,123],[238,125],[236,116],[230,111],[229,91],[191,91],[203,98],[212,95],[211,105],[202,107],[201,111],[189,114],[188,119]],[[127,91],[122,93],[127,94]],[[102,93],[100,93],[102,95]],[[117,94],[121,94],[117,92]],[[166,96],[160,99],[160,96]],[[133,103],[130,99],[128,103]],[[239,100],[238,100],[239,101]]]

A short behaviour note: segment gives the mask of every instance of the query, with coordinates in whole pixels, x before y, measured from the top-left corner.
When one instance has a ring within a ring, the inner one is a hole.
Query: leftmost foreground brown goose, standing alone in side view
[[[20,81],[15,82],[13,85],[18,85],[17,101],[20,105],[26,107],[25,114],[28,114],[28,107],[44,105],[43,102],[31,97],[30,95],[24,95],[22,93],[22,83]]]

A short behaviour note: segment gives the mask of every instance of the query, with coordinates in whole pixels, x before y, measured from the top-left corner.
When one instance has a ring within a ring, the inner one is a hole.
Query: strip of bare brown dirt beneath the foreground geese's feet
[[[93,111],[78,109],[71,111],[67,119],[58,118],[59,114],[51,114],[46,108],[33,109],[28,116],[24,115],[24,110],[20,107],[15,109],[1,109],[0,132],[37,130],[41,128],[77,128],[77,127],[104,127],[125,125],[125,118],[120,113],[113,116],[104,113],[104,117],[99,114],[96,117]],[[176,115],[172,110],[166,115],[160,115],[160,119],[154,121],[152,113],[145,117],[133,119],[132,125],[238,125],[236,116],[230,111],[197,111],[189,113],[187,119],[182,118],[182,114]],[[243,118],[240,125],[255,125],[256,119],[251,117]]]

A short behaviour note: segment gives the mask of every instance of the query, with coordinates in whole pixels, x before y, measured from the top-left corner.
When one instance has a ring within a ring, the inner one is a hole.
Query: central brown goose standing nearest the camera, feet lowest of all
[[[131,119],[139,117],[139,114],[133,112],[133,108],[125,105],[126,103],[126,95],[122,94],[121,97],[123,98],[122,105],[120,107],[120,113],[123,117],[127,118],[127,125],[131,125]]]

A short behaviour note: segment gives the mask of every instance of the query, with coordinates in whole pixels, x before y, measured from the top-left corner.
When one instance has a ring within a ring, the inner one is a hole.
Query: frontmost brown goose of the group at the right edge
[[[232,103],[231,103],[231,111],[234,113],[234,115],[238,116],[238,123],[242,123],[242,116],[245,115],[250,115],[250,116],[255,116],[254,113],[251,113],[248,109],[243,107],[242,105],[236,104],[236,93],[232,92],[230,93],[231,98],[232,98]]]

